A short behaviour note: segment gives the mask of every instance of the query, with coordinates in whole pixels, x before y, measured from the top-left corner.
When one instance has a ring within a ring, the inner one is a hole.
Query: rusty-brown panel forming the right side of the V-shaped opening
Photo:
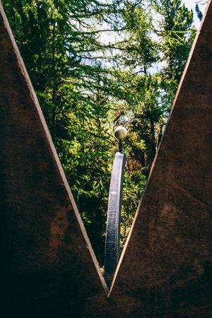
[[[211,317],[211,33],[209,4],[110,295],[122,317]]]

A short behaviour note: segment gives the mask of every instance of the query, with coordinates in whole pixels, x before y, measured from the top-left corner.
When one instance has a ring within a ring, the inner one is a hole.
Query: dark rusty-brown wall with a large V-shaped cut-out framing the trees
[[[211,1],[109,297],[0,11],[2,317],[210,317]]]

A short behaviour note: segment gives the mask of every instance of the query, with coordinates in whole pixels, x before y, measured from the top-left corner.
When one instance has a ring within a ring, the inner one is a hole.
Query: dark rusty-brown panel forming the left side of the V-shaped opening
[[[81,317],[107,288],[0,10],[0,315]]]

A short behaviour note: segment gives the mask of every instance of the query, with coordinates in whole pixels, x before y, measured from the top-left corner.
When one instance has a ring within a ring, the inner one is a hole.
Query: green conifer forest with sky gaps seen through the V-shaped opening
[[[123,247],[196,35],[193,12],[181,0],[1,2],[102,266],[113,131],[128,131]]]

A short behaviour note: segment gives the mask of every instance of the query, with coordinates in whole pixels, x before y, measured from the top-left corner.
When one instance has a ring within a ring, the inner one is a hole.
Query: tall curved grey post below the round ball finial
[[[105,281],[110,288],[119,261],[120,223],[122,212],[122,187],[125,153],[116,153],[112,166],[109,201],[107,208],[107,232],[105,242]]]

